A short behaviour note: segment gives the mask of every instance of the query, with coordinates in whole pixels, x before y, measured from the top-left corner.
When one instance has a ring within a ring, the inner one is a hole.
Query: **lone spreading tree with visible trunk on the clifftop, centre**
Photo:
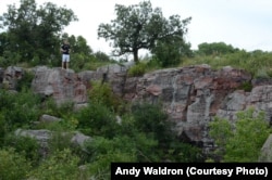
[[[150,1],[134,5],[115,4],[116,18],[111,24],[100,24],[98,37],[113,41],[114,55],[133,53],[138,62],[140,49],[152,50],[159,40],[183,39],[190,17],[183,21],[180,15],[163,17],[159,8],[152,9]]]

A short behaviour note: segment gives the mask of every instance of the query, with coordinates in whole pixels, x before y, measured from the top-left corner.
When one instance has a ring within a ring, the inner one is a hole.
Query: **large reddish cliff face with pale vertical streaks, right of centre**
[[[161,69],[138,79],[134,101],[162,102],[182,139],[209,146],[208,123],[228,103],[225,98],[250,80],[250,74],[232,67]]]

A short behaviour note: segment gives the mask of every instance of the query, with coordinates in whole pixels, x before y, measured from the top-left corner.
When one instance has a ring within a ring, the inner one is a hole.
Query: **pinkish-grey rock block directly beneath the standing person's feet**
[[[35,70],[32,87],[37,93],[52,97],[57,103],[66,101],[86,103],[88,83],[73,72],[39,67]]]

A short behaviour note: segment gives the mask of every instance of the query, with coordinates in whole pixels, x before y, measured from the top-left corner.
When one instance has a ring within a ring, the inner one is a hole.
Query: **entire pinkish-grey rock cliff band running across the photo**
[[[11,77],[21,72],[11,69],[17,72],[8,70]],[[76,74],[40,66],[33,69],[32,87],[37,93],[53,97],[58,103],[73,101],[86,105],[91,81],[107,81],[116,95],[127,101],[162,102],[181,139],[205,147],[213,144],[208,124],[214,116],[235,120],[238,111],[254,106],[256,111],[264,111],[267,120],[272,121],[272,81],[252,79],[243,69],[226,66],[215,70],[209,65],[196,65],[160,69],[143,77],[128,77],[126,70],[114,65]],[[248,90],[247,85],[252,89]]]

